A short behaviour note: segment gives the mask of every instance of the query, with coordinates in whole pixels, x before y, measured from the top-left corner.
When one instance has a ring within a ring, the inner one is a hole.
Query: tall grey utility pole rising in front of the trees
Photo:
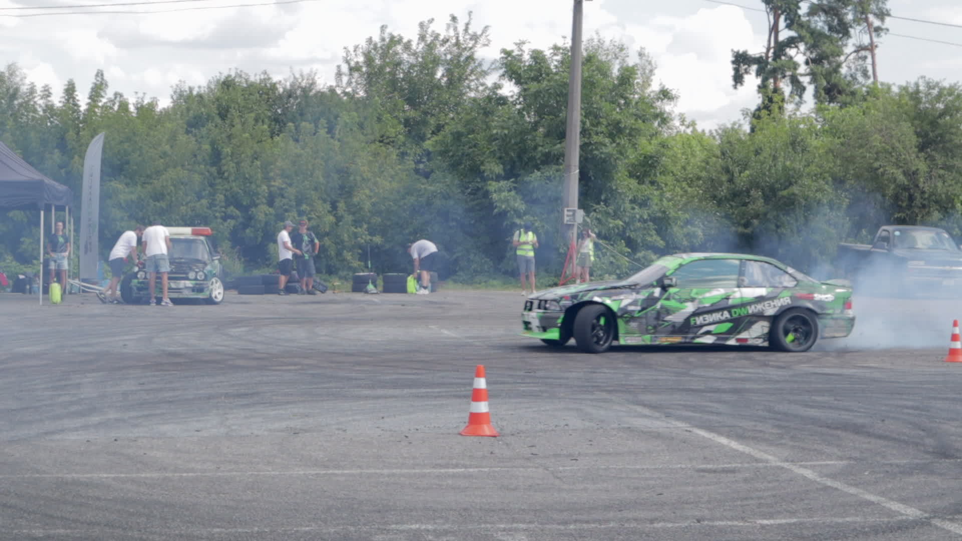
[[[568,81],[568,123],[565,128],[565,191],[562,199],[566,209],[578,208],[578,160],[581,147],[581,26],[586,0],[574,0],[571,17],[571,67]],[[573,217],[572,217],[573,218]],[[562,224],[569,243],[574,242],[577,223],[568,219]]]

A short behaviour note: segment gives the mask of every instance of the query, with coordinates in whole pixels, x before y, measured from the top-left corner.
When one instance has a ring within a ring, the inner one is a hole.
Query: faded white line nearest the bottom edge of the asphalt
[[[864,518],[864,517],[815,517],[815,518],[784,518],[784,519],[746,519],[740,521],[688,521],[688,522],[642,522],[642,521],[623,521],[617,523],[602,524],[474,524],[474,525],[447,525],[447,524],[392,524],[392,525],[345,525],[345,526],[305,526],[305,527],[279,527],[279,528],[190,528],[190,529],[143,529],[141,534],[167,534],[167,535],[187,535],[187,534],[218,534],[218,533],[304,533],[304,532],[329,532],[338,531],[447,531],[447,530],[468,530],[468,529],[501,529],[501,530],[551,530],[551,531],[574,531],[574,530],[593,530],[610,528],[644,529],[644,528],[743,528],[759,526],[791,526],[796,524],[878,524],[878,523],[898,523],[905,521],[915,521],[911,518]],[[9,533],[16,535],[84,535],[100,532],[97,528],[85,529],[14,529]]]

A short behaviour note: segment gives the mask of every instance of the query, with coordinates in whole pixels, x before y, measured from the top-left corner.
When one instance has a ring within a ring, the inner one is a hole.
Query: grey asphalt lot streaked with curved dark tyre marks
[[[521,302],[2,295],[0,539],[962,539],[957,300],[602,355],[519,337]],[[476,364],[498,438],[458,435]]]

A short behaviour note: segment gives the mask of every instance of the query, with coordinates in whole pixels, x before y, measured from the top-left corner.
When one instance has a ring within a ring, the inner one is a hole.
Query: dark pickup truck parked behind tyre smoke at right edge
[[[840,244],[836,269],[876,292],[941,291],[962,286],[962,250],[937,227],[883,225],[872,245]]]

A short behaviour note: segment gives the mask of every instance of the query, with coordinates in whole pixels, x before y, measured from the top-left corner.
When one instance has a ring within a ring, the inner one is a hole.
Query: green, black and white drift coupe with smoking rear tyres
[[[771,346],[807,351],[851,333],[845,280],[819,282],[767,257],[680,253],[620,281],[562,286],[524,301],[524,336],[583,351],[613,344]]]

